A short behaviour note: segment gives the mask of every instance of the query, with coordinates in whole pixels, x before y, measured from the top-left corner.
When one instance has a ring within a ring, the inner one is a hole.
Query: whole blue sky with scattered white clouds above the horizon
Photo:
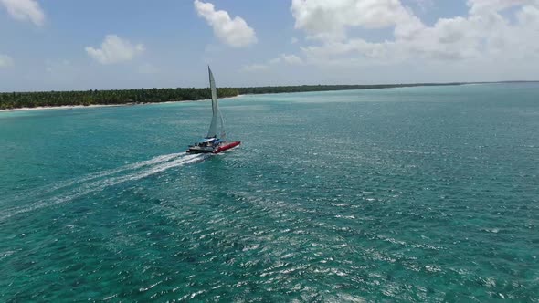
[[[537,79],[537,0],[0,0],[0,91]]]

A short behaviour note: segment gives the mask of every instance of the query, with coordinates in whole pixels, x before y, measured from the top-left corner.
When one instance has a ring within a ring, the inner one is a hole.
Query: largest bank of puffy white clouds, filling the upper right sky
[[[468,0],[468,16],[440,18],[426,26],[400,0],[292,0],[296,28],[315,40],[304,60],[389,62],[420,60],[539,61],[538,0]],[[513,10],[514,20],[502,14]],[[349,28],[393,28],[393,39],[350,37]]]

